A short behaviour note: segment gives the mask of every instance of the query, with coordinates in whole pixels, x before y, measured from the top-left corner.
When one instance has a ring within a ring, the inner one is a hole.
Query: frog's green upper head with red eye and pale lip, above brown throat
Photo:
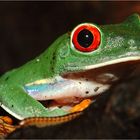
[[[139,31],[137,14],[121,24],[80,24],[54,43],[54,73],[65,75],[97,68],[103,70],[106,66],[116,69],[117,64],[136,62],[140,59]]]

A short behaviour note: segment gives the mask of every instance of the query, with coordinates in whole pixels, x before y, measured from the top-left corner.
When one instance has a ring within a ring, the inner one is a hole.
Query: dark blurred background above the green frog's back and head
[[[81,22],[119,23],[134,12],[140,13],[139,1],[0,2],[0,75]]]

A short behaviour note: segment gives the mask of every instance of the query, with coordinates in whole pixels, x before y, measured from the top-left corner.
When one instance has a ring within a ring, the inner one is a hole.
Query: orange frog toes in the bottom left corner
[[[0,138],[5,137],[16,129],[16,126],[12,125],[12,123],[10,117],[0,116]]]

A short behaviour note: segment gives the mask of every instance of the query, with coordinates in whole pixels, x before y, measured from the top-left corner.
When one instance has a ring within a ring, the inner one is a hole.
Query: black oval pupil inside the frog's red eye
[[[87,29],[80,31],[77,36],[78,43],[84,48],[88,48],[92,44],[93,39],[92,33]]]

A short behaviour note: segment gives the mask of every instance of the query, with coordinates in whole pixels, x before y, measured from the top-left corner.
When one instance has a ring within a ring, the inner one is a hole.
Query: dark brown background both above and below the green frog
[[[0,2],[0,75],[42,53],[81,22],[119,23],[139,1]],[[9,138],[140,138],[140,75],[119,81],[78,120],[17,130]]]

